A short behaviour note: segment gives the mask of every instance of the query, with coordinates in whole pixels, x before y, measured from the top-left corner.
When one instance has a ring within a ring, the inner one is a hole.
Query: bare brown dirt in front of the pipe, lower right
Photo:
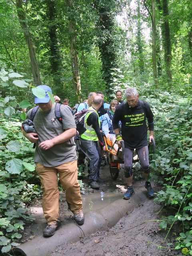
[[[125,203],[128,203],[125,201]],[[108,231],[98,231],[75,243],[58,247],[51,256],[173,256],[179,255],[167,246],[173,237],[164,242],[166,233],[160,231],[156,221],[160,206],[146,200]]]

